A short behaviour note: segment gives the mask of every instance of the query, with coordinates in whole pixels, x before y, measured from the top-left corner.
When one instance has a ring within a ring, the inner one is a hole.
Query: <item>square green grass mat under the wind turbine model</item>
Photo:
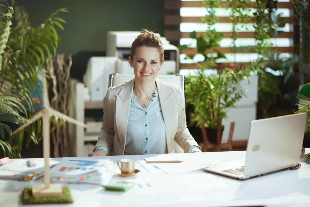
[[[23,204],[45,204],[45,203],[73,203],[69,187],[62,188],[63,194],[59,197],[33,197],[31,187],[23,190]]]

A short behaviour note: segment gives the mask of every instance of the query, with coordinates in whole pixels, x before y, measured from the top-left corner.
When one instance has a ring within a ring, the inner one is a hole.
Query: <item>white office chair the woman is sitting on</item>
[[[109,85],[108,87],[113,87],[120,85],[122,83],[128,82],[134,79],[134,75],[128,74],[110,74],[109,75]],[[162,82],[175,84],[181,87],[183,96],[185,98],[185,90],[184,90],[184,76],[183,75],[157,75],[157,79]],[[174,141],[175,142],[175,141]],[[175,142],[175,148],[177,153],[184,153],[184,150]]]

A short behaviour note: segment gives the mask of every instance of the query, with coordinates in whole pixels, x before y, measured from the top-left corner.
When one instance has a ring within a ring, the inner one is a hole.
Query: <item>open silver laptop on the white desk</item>
[[[245,159],[210,165],[203,170],[245,180],[299,168],[306,120],[307,113],[254,120]]]

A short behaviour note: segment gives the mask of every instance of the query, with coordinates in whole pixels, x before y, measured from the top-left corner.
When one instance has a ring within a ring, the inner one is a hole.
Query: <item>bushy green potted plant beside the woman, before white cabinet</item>
[[[213,58],[197,65],[199,69],[190,74],[185,83],[186,103],[193,106],[189,125],[195,123],[196,127],[205,127],[208,141],[217,143],[217,129],[220,127],[223,133],[222,120],[228,117],[227,108],[235,107],[234,104],[245,96],[240,82],[247,80],[250,68],[236,70],[224,66],[208,74],[207,69],[218,66]],[[202,138],[196,139],[203,142]]]

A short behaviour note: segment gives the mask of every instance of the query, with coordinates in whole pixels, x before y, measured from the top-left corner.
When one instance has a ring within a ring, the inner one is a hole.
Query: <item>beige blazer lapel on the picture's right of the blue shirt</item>
[[[162,107],[162,115],[165,121],[165,126],[166,126],[166,145],[167,145],[167,151],[168,153],[170,152],[170,146],[171,146],[171,139],[172,137],[172,132],[173,132],[173,128],[174,124],[175,124],[175,120],[174,120],[174,109],[175,109],[175,101],[173,100],[173,94],[171,93],[171,91],[166,87],[166,85],[164,83],[162,83],[162,81],[156,79],[156,83],[157,83],[157,89],[158,89],[158,95],[159,95],[159,101],[160,101],[160,105]]]

